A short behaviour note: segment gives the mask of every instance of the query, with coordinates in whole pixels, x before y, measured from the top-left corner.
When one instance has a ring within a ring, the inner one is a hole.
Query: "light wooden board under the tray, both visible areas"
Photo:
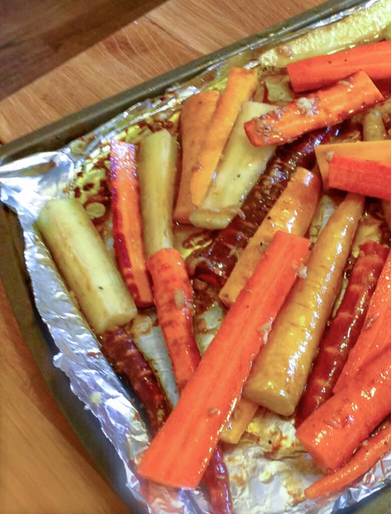
[[[105,4],[104,0],[99,2]],[[284,3],[169,0],[2,100],[0,139],[11,141],[319,3],[318,0]],[[79,7],[87,4],[80,2]],[[65,16],[63,27],[72,25],[68,14],[61,14]],[[3,344],[0,511],[5,514],[126,512],[94,469],[51,397],[2,288],[0,338]],[[383,508],[382,512],[386,510]]]

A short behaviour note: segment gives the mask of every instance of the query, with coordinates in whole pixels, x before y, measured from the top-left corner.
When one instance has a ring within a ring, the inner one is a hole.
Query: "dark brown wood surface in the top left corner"
[[[0,99],[163,0],[0,0]]]

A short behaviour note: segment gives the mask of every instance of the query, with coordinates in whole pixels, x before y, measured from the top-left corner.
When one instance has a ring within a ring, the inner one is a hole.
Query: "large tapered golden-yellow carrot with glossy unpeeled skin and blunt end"
[[[245,398],[290,416],[295,411],[331,314],[364,198],[349,193],[322,230],[254,362]]]

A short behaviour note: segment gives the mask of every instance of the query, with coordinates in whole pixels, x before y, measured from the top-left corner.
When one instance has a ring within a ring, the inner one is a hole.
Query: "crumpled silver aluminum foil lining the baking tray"
[[[389,0],[379,0],[379,3],[389,12]],[[373,4],[374,0],[363,3],[362,8]],[[337,12],[312,28],[337,21],[351,12],[352,9]],[[308,28],[303,33],[307,31]],[[107,172],[110,138],[137,141],[151,125],[169,126],[175,130],[183,100],[201,89],[224,87],[230,66],[259,66],[258,57],[264,44],[271,41],[277,43],[292,35],[284,35],[283,39],[271,34],[238,56],[211,66],[190,83],[172,86],[163,97],[132,106],[60,151],[35,154],[0,167],[1,199],[18,215],[36,307],[58,347],[53,364],[67,374],[73,393],[99,419],[102,431],[124,463],[127,486],[149,512],[209,513],[210,505],[202,489],[178,492],[161,486],[142,487],[135,467],[149,444],[147,430],[120,380],[99,354],[99,342],[73,302],[40,234],[34,229],[34,222],[48,199],[75,196],[78,190],[81,192],[78,196],[83,201],[97,190]],[[93,184],[88,193],[83,189],[85,181]],[[112,246],[109,231],[106,244]],[[223,315],[216,305],[206,313],[211,330],[207,337],[199,338],[203,350]],[[160,328],[154,323],[155,316],[154,311],[149,310],[136,318],[135,340],[151,360],[174,405],[178,392]],[[317,502],[303,501],[304,488],[319,478],[321,473],[300,447],[291,420],[263,409],[252,420],[241,442],[225,448],[225,457],[237,514],[328,514],[360,501],[391,482],[390,454],[366,473],[362,481],[349,487],[343,494],[321,498]],[[142,495],[148,497],[149,506]]]

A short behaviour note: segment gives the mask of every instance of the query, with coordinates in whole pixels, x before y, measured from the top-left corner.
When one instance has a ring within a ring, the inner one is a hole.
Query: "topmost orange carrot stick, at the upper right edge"
[[[360,70],[372,80],[388,79],[391,77],[391,41],[304,59],[289,63],[286,68],[295,93],[328,86]]]

